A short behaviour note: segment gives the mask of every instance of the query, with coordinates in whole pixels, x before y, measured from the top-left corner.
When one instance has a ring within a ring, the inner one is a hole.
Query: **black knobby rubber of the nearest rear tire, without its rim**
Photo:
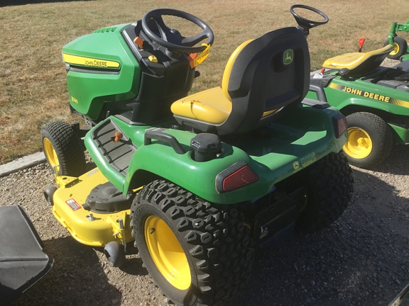
[[[235,205],[214,205],[168,181],[153,181],[131,206],[133,237],[141,228],[133,217],[141,203],[165,212],[182,237],[197,275],[197,299],[192,305],[222,305],[245,284],[253,266],[252,240]]]

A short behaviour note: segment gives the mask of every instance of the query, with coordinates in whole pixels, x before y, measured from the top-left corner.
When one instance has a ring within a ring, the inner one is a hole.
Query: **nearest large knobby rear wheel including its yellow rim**
[[[168,181],[133,200],[131,227],[148,273],[175,305],[221,305],[253,266],[252,241],[234,205],[214,205]]]

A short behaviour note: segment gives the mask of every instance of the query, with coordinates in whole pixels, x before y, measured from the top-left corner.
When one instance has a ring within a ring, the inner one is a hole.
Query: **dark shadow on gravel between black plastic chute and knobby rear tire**
[[[54,266],[13,306],[118,305],[122,293],[108,282],[104,267],[92,247],[79,244],[72,237],[46,240],[44,244],[45,252],[55,259]],[[78,278],[77,274],[82,277]]]

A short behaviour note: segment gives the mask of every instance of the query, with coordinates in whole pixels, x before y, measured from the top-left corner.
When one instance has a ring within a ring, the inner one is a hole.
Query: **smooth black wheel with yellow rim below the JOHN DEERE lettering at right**
[[[373,113],[347,115],[348,139],[344,149],[350,164],[371,169],[391,153],[393,135],[388,123]]]

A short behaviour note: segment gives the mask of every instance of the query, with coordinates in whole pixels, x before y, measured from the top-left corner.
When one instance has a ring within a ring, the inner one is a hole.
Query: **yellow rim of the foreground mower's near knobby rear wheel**
[[[192,281],[189,263],[172,229],[160,217],[151,215],[144,231],[146,246],[163,277],[179,290],[189,288]]]

